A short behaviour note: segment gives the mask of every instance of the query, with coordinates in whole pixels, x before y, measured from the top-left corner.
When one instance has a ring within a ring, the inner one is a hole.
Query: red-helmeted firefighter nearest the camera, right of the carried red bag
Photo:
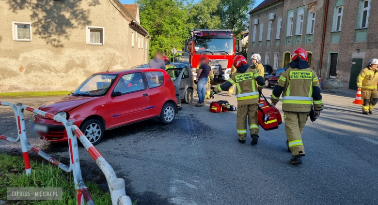
[[[303,128],[309,115],[311,121],[315,121],[320,115],[323,101],[317,75],[309,68],[306,50],[294,50],[291,60],[289,68],[282,73],[274,87],[270,100],[275,105],[282,93],[286,145],[288,151],[292,152],[290,163],[302,164],[302,157],[305,155],[302,142]]]

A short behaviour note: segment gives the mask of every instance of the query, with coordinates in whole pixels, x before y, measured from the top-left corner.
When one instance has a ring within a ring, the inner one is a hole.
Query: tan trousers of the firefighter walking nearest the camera
[[[305,154],[302,132],[306,125],[307,118],[308,113],[284,112],[287,146],[290,148],[293,156]]]

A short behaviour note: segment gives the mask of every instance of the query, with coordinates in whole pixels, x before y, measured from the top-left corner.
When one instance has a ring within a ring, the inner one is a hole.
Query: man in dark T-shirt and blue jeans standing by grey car
[[[206,57],[200,59],[200,67],[197,73],[197,93],[198,103],[196,107],[204,106],[206,97],[206,85],[208,82],[208,76],[211,74],[211,67],[208,64],[209,60]]]

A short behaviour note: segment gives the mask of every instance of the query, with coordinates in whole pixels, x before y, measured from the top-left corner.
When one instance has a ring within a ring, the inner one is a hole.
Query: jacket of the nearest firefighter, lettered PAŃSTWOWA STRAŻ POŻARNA
[[[282,110],[288,112],[310,112],[314,103],[314,109],[322,109],[323,101],[313,99],[313,87],[319,87],[319,81],[311,68],[288,68],[281,74],[277,83],[284,88],[282,93]],[[318,88],[317,88],[318,89]],[[319,89],[320,90],[320,89]],[[280,96],[272,94],[273,101],[278,101]]]

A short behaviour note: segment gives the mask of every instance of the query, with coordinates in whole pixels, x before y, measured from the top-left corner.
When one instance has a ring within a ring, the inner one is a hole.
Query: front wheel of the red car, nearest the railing
[[[80,126],[81,132],[92,145],[97,145],[104,137],[104,125],[97,119],[90,119]]]

